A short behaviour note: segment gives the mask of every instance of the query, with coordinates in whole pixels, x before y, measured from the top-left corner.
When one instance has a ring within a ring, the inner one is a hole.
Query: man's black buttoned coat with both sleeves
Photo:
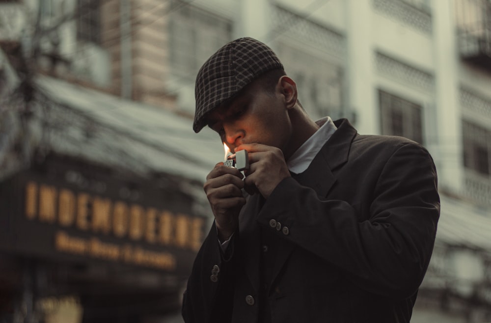
[[[439,216],[434,162],[408,139],[335,124],[305,172],[248,197],[226,254],[213,225],[185,322],[409,322]]]

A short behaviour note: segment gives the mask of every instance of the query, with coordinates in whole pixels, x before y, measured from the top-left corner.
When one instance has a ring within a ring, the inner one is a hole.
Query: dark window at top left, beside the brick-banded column
[[[77,39],[100,44],[101,42],[101,1],[77,1]]]

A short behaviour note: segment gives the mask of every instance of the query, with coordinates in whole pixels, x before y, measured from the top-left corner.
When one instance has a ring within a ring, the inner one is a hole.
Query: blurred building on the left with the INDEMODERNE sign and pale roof
[[[57,52],[79,30],[75,4],[0,2],[0,322],[168,322],[209,230],[202,183],[223,147],[114,96],[100,48]]]

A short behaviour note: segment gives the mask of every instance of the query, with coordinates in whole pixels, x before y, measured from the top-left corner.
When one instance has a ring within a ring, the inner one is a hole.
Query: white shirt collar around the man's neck
[[[304,172],[337,129],[330,117],[324,117],[316,123],[321,127],[286,162],[291,172],[296,174]]]

